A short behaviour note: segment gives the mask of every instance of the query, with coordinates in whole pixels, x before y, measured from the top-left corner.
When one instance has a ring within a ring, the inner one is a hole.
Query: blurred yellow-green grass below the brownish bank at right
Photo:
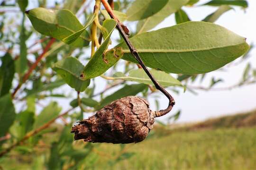
[[[174,132],[158,139],[128,144],[136,153],[114,167],[110,156],[96,163],[99,170],[256,170],[256,127]],[[102,144],[115,155],[119,146]]]

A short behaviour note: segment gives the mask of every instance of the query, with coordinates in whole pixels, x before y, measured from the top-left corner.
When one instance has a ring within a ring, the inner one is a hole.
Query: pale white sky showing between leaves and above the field
[[[207,2],[209,0],[201,0],[199,4]],[[49,1],[51,2],[51,1]],[[247,38],[247,42],[256,43],[256,0],[248,0],[249,8],[246,12],[238,7],[235,10],[230,10],[224,15],[222,15],[216,24],[224,26],[236,34],[244,36]],[[30,6],[34,6],[31,4]],[[206,17],[211,12],[215,11],[215,7],[197,7],[197,8],[183,8],[194,21],[199,21]],[[174,15],[168,17],[154,30],[175,25]],[[117,32],[114,32],[114,34]],[[208,74],[206,80],[202,86],[208,86],[212,76],[216,78],[223,78],[224,83],[216,85],[216,87],[226,87],[238,83],[242,78],[244,68],[247,63],[250,62],[254,68],[256,68],[256,48],[251,52],[252,56],[246,62],[228,69],[228,72],[214,71]],[[97,90],[101,91],[105,87],[105,82],[102,78],[96,78]],[[62,90],[69,91],[71,88],[68,85],[62,87]],[[211,117],[218,117],[222,115],[232,114],[236,112],[248,111],[256,109],[256,84],[243,86],[241,88],[236,88],[231,91],[197,91],[198,95],[192,94],[190,92],[180,93],[179,95],[172,93],[174,95],[176,105],[174,109],[164,117],[159,119],[165,120],[167,117],[174,114],[177,110],[182,110],[182,114],[178,122],[189,122],[189,121],[200,121],[208,119]],[[110,92],[111,93],[111,92]],[[58,100],[63,110],[69,108],[69,101]],[[46,105],[50,99],[44,100],[43,103]],[[151,103],[151,109],[155,110],[154,100],[149,100]],[[165,109],[167,106],[167,99],[162,95],[160,108]],[[37,111],[41,109],[38,108]]]

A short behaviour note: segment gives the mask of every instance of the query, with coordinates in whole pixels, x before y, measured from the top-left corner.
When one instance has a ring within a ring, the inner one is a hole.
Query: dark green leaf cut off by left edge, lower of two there
[[[11,95],[6,94],[0,98],[0,137],[5,136],[15,119],[15,109]]]

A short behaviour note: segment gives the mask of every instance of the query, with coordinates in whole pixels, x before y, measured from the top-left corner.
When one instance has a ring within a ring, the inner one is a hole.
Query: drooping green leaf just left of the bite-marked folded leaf
[[[81,79],[83,68],[82,63],[78,59],[68,57],[55,63],[53,70],[55,70],[69,86],[78,92],[83,92],[88,85],[90,85],[90,79]]]

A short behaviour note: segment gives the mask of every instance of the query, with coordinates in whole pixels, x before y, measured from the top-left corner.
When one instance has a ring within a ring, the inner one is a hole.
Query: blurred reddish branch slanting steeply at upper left
[[[42,54],[37,58],[36,62],[29,68],[29,70],[27,71],[27,73],[25,74],[25,76],[23,76],[22,81],[17,85],[17,87],[15,88],[14,92],[12,93],[12,98],[14,98],[15,94],[18,92],[18,89],[21,87],[22,84],[24,84],[28,77],[30,76],[30,74],[32,73],[32,71],[37,67],[37,64],[43,59],[43,57],[45,56],[46,52],[50,49],[50,47],[52,46],[52,44],[55,42],[55,38],[52,38],[48,44],[46,45],[44,51],[42,52]]]

